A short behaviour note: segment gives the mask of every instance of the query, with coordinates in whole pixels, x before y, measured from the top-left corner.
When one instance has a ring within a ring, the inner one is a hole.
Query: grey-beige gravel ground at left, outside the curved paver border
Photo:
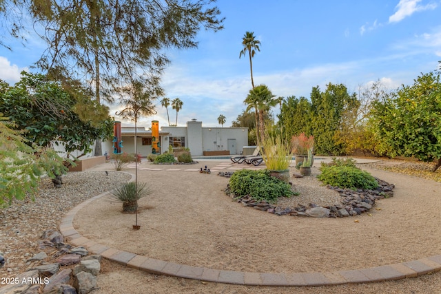
[[[62,216],[77,204],[113,189],[132,176],[109,171],[71,172],[63,176],[63,187],[55,189],[52,180],[41,181],[35,201],[14,201],[0,210],[0,251],[6,264],[1,277],[10,277],[26,269],[26,260],[38,253],[37,240],[43,231],[58,229]]]

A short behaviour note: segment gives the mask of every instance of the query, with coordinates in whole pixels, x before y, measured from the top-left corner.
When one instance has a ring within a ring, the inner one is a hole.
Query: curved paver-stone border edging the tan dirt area
[[[132,179],[134,180],[134,175]],[[109,191],[85,200],[71,209],[62,218],[59,230],[74,246],[84,246],[93,254],[100,254],[112,262],[117,262],[147,273],[185,277],[207,282],[239,284],[247,286],[327,286],[365,282],[383,282],[417,277],[441,271],[441,255],[411,260],[397,264],[376,266],[368,269],[334,271],[325,273],[250,273],[242,271],[223,271],[202,266],[189,266],[147,258],[127,251],[105,246],[83,237],[73,227],[76,213],[98,198],[107,196]]]

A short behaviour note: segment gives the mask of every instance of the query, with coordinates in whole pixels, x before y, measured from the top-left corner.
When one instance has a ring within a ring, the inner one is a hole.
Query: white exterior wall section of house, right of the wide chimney
[[[236,154],[241,154],[243,147],[248,145],[246,127],[203,127],[202,137],[203,151],[228,150],[228,139],[236,139]]]

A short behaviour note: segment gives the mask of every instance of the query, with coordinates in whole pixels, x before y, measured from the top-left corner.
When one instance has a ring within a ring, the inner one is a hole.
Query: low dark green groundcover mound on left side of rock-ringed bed
[[[289,184],[269,176],[268,170],[235,171],[229,179],[229,188],[237,196],[249,195],[257,201],[276,202],[279,197],[294,195]]]

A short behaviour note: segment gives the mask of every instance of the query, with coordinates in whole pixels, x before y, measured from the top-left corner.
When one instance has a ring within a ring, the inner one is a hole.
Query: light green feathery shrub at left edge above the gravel
[[[34,199],[41,176],[54,178],[67,171],[57,152],[31,144],[12,126],[0,114],[0,207],[10,205],[13,198]]]

